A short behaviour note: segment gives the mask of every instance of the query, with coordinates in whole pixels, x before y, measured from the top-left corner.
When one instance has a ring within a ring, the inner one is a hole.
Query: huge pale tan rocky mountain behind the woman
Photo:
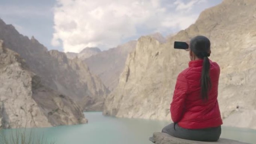
[[[170,120],[176,78],[189,62],[188,52],[173,49],[174,41],[204,35],[211,40],[210,59],[221,68],[218,99],[224,125],[256,129],[255,10],[254,0],[223,0],[167,43],[141,37],[106,98],[104,114]]]

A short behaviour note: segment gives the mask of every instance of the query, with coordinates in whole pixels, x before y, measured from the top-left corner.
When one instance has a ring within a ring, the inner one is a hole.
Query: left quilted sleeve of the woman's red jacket
[[[186,77],[180,73],[174,94],[173,94],[173,101],[171,102],[171,119],[174,123],[179,122],[182,119],[183,110],[185,108],[185,98],[186,98],[186,92],[188,91],[188,82]]]

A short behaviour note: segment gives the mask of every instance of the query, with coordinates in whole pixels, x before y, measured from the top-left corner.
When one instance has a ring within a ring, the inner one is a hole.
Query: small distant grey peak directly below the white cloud
[[[92,55],[96,55],[97,53],[101,52],[99,48],[85,48],[79,53],[74,53],[74,52],[67,52],[66,55],[69,59],[74,59],[74,58],[79,58],[82,61],[85,60],[86,58],[91,57]]]

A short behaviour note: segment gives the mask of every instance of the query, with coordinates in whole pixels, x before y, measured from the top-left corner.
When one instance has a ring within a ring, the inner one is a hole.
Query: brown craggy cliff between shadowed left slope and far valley
[[[48,52],[53,61],[52,65],[57,90],[65,95],[70,95],[83,110],[102,110],[104,98],[108,89],[101,80],[92,74],[88,66],[79,58],[68,59],[63,52],[50,50]]]

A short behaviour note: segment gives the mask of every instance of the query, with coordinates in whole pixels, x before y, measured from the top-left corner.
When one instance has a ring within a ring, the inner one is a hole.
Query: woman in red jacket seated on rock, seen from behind
[[[188,140],[217,141],[222,125],[217,101],[220,67],[208,59],[207,37],[194,37],[189,47],[191,61],[177,78],[170,107],[174,123],[162,132]]]

